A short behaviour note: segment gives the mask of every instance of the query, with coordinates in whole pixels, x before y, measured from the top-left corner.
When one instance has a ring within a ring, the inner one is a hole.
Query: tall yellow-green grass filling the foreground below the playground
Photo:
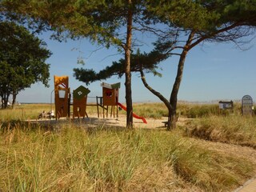
[[[175,132],[18,124],[0,134],[1,191],[228,191],[253,164]]]

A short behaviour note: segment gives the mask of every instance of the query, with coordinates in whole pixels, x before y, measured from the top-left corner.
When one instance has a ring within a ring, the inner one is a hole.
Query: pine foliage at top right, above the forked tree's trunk
[[[148,9],[171,27],[194,31],[217,31],[225,23],[255,26],[253,1],[150,1]],[[190,18],[190,19],[187,19]]]

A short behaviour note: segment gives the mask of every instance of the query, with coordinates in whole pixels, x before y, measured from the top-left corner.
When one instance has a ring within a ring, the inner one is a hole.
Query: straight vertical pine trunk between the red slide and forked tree
[[[126,69],[126,127],[133,127],[133,102],[131,93],[131,73],[130,73],[130,50],[132,38],[132,19],[133,12],[131,7],[131,0],[128,0],[128,13],[127,13],[127,32],[126,32],[126,46],[125,46],[125,69]]]

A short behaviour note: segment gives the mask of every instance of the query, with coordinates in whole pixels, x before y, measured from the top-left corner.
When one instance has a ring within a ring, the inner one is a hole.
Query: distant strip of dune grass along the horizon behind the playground
[[[125,105],[125,104],[124,104]],[[109,116],[110,116],[109,107]],[[134,114],[138,114],[144,118],[155,118],[159,119],[168,116],[168,110],[162,102],[152,102],[152,103],[134,103]],[[54,104],[23,104],[17,106],[15,110],[7,109],[0,110],[0,118],[3,120],[9,119],[36,119],[38,114],[54,110]],[[72,106],[71,106],[72,111]],[[87,114],[97,114],[96,106],[86,106]],[[99,107],[100,117],[102,117],[102,108]],[[115,108],[116,114],[116,108]],[[125,110],[118,110],[118,114],[126,114]],[[219,110],[218,104],[196,104],[196,103],[186,103],[178,102],[177,114],[180,117],[186,118],[203,118],[208,116],[223,116],[229,114],[241,114],[241,105],[239,103],[234,103],[234,110]]]

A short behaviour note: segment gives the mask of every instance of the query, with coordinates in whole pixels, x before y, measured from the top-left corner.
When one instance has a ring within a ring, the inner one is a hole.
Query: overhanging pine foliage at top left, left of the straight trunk
[[[41,23],[44,29],[54,30],[53,37],[58,40],[86,37],[109,47],[124,45],[125,38],[119,32],[126,26],[128,8],[140,18],[142,2],[133,1],[130,7],[124,0],[3,0],[0,6],[7,13],[25,16],[31,22]]]

